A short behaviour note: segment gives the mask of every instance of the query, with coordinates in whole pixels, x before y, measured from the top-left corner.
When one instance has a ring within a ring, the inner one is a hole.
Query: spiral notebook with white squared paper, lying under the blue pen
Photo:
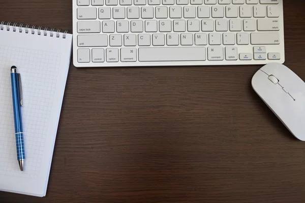
[[[71,58],[72,35],[0,23],[0,190],[45,196]],[[23,91],[24,171],[16,155],[10,67]]]

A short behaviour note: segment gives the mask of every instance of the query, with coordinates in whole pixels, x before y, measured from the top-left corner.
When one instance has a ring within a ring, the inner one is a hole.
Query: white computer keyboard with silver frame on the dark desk
[[[283,0],[73,0],[73,63],[283,63],[283,22]]]

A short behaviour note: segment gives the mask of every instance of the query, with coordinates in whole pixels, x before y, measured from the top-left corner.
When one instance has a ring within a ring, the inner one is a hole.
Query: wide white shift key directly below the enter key
[[[280,34],[277,32],[251,33],[251,44],[253,45],[280,44]]]

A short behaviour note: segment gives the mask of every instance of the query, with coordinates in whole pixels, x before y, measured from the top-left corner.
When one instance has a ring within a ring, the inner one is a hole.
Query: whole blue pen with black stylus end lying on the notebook
[[[22,87],[21,87],[21,77],[20,74],[17,73],[16,66],[11,67],[11,80],[12,80],[17,159],[19,162],[20,170],[23,171],[25,155],[24,155],[24,142],[23,142],[22,119],[21,119]]]

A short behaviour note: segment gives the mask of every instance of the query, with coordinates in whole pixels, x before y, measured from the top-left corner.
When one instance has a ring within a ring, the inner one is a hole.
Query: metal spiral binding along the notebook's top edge
[[[0,22],[0,30],[7,30],[10,31],[10,27],[13,27],[13,32],[16,32],[17,29],[19,32],[25,32],[25,33],[31,33],[32,35],[42,35],[43,36],[50,36],[50,37],[56,37],[60,38],[60,33],[63,33],[63,39],[66,39],[67,33],[69,33],[69,30],[66,30],[65,32],[62,32],[62,29],[57,29],[56,28],[49,28],[49,27],[43,27],[39,26],[37,27],[36,25],[24,25],[23,23],[13,23],[13,22],[6,22],[6,21],[1,21]],[[49,35],[48,35],[49,32]]]

